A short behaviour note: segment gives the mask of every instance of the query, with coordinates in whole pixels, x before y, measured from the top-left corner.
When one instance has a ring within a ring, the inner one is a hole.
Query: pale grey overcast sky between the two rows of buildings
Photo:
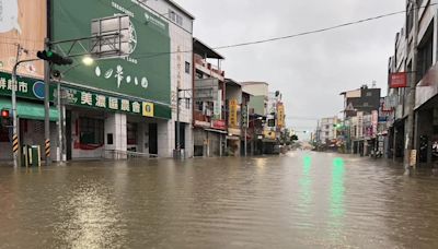
[[[292,35],[404,10],[404,0],[177,0],[210,47]],[[404,14],[309,36],[219,50],[227,78],[265,81],[284,93],[287,126],[313,130],[343,108],[339,93],[387,87],[388,59]],[[300,118],[301,117],[301,118]]]

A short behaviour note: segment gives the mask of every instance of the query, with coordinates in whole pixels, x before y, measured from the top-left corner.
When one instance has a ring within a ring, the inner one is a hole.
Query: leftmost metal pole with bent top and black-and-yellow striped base
[[[19,129],[18,129],[18,124],[19,124],[19,120],[16,117],[16,68],[20,64],[19,62],[19,57],[20,57],[20,49],[21,49],[21,45],[19,44],[16,46],[16,61],[15,64],[12,69],[12,94],[11,94],[11,98],[12,98],[12,138],[13,140],[16,138],[19,141],[19,150],[13,151],[13,161],[14,161],[14,167],[19,167],[20,165],[20,134],[19,134]]]

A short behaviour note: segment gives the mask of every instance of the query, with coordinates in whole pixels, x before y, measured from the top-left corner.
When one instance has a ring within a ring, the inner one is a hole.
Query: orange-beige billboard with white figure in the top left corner
[[[46,37],[46,0],[0,0],[0,70],[11,72],[16,62],[18,44],[20,60],[34,59],[36,50],[44,49]],[[19,74],[43,78],[43,61],[22,63]]]

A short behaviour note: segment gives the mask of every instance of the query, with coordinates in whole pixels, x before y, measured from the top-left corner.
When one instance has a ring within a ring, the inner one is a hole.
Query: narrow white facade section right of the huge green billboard
[[[192,157],[193,146],[193,22],[195,17],[175,1],[155,0],[146,3],[154,12],[169,22],[171,36],[171,88],[172,88],[172,121],[159,126],[159,156],[170,157],[176,146],[176,108],[180,99],[181,146],[186,157]],[[180,52],[175,52],[180,51]],[[181,90],[180,94],[177,88]]]

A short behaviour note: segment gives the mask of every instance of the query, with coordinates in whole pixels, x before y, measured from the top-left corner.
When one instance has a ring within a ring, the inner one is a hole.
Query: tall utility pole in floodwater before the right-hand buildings
[[[418,33],[418,5],[416,1],[411,1],[413,4],[413,32],[414,32],[414,37],[413,37],[413,56],[412,56],[412,70],[410,70],[413,73],[410,73],[411,75],[411,81],[410,81],[410,93],[408,93],[408,102],[407,102],[407,124],[406,124],[406,138],[405,138],[405,153],[404,153],[404,167],[407,170],[411,167],[411,153],[414,150],[414,106],[415,106],[415,87],[417,83],[417,33]],[[408,35],[407,35],[408,37]],[[408,38],[407,43],[408,43]],[[408,46],[407,46],[408,47]],[[407,54],[408,55],[408,54]],[[413,165],[415,167],[415,165]]]

